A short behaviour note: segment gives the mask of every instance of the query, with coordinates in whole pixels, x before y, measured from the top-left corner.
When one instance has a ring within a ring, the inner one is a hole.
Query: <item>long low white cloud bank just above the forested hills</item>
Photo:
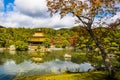
[[[20,12],[8,12],[1,16],[0,24],[7,27],[51,27],[51,28],[66,28],[74,26],[74,18],[66,16],[60,19],[59,15],[53,17],[31,17]]]

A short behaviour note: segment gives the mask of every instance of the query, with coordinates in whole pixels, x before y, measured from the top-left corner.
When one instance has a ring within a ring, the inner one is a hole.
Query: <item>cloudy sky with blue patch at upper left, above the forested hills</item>
[[[107,21],[113,22],[117,18],[120,18],[120,12]],[[0,0],[0,25],[5,27],[59,29],[76,26],[74,21],[75,18],[71,15],[62,19],[58,14],[50,17],[46,0]]]

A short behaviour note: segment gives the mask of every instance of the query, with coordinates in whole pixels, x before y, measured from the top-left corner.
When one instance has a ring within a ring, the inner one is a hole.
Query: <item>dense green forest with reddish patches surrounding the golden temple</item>
[[[89,37],[84,27],[62,28],[55,30],[52,28],[0,28],[0,47],[9,47],[14,44],[18,50],[26,50],[28,37],[35,31],[41,29],[47,39],[44,46],[55,45],[58,48],[74,47],[74,49],[85,51],[98,51],[94,41]],[[94,28],[93,31],[102,42],[108,53],[118,53],[120,51],[120,29],[111,30],[110,28]]]

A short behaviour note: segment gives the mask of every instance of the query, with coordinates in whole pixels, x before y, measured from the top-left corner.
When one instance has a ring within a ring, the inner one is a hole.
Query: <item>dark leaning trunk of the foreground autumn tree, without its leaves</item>
[[[106,69],[108,70],[109,75],[112,75],[112,65],[111,62],[105,52],[105,49],[103,48],[102,44],[98,41],[98,38],[94,35],[91,28],[87,29],[88,33],[90,34],[91,38],[95,41],[96,46],[100,49],[102,58],[105,62]]]

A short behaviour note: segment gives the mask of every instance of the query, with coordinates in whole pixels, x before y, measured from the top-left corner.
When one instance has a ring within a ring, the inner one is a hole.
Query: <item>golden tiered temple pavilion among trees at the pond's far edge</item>
[[[46,39],[44,33],[41,30],[36,31],[31,37],[28,38],[28,42],[31,46],[38,46]]]

